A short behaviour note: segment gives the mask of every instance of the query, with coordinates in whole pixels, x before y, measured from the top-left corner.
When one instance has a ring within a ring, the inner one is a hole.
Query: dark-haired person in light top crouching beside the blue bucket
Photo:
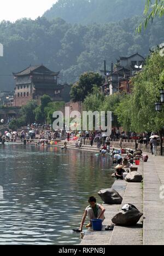
[[[88,202],[90,203],[90,205],[87,206],[85,209],[84,216],[79,228],[81,232],[83,231],[83,225],[85,223],[86,216],[88,216],[90,221],[90,223],[85,226],[86,228],[90,228],[92,226],[92,219],[102,219],[103,221],[105,219],[104,212],[106,211],[106,209],[102,205],[99,205],[99,203],[96,203],[96,198],[94,196],[91,196]]]

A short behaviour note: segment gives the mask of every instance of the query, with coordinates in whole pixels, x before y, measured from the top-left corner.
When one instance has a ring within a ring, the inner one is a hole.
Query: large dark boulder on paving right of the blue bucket
[[[125,210],[121,210],[113,217],[112,223],[120,226],[134,226],[142,216],[143,213],[139,212],[135,206],[129,203],[125,205]]]

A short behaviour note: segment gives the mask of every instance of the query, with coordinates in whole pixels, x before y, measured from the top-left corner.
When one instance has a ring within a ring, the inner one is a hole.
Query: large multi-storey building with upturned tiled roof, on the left
[[[69,85],[58,85],[57,75],[43,65],[30,66],[21,72],[13,73],[16,81],[14,106],[21,107],[30,100],[38,101],[40,97],[48,95],[52,101],[63,101],[63,90],[69,91]],[[68,94],[69,100],[69,94]]]

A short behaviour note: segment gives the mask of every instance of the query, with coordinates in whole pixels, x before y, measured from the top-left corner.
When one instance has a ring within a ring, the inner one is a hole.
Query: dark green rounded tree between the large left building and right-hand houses
[[[89,95],[93,86],[101,86],[102,76],[95,72],[86,72],[79,77],[79,81],[71,88],[71,100],[74,102],[84,101],[85,97]]]

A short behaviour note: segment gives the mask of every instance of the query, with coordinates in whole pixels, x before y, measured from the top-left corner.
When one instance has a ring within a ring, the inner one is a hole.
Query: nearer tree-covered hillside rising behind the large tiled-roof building
[[[99,25],[71,25],[62,19],[48,21],[18,20],[0,24],[0,90],[13,90],[12,72],[43,63],[52,71],[61,71],[62,82],[75,82],[85,71],[99,71],[104,59],[107,68],[119,56],[138,52],[143,56],[149,47],[164,42],[164,18],[155,19],[146,32],[136,34],[141,18]]]

